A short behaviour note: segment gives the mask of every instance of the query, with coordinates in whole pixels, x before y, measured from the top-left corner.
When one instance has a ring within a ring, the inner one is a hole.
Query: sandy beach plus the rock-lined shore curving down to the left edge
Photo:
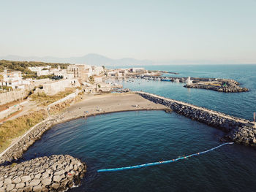
[[[103,100],[102,100],[103,99]],[[95,107],[95,103],[97,106]],[[97,110],[95,110],[95,108]],[[141,110],[165,110],[162,104],[155,104],[135,93],[110,93],[97,96],[86,96],[86,99],[72,104],[59,115],[53,115],[31,127],[23,136],[18,137],[7,149],[0,153],[0,164],[6,164],[21,158],[38,139],[52,126],[78,118],[104,115],[113,112]],[[85,113],[85,111],[88,111]]]

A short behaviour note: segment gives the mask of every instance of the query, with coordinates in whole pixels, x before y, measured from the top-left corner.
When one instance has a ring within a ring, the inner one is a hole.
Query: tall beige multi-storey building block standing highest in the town
[[[67,74],[71,74],[72,78],[78,79],[80,82],[86,81],[86,65],[69,65],[67,66]]]

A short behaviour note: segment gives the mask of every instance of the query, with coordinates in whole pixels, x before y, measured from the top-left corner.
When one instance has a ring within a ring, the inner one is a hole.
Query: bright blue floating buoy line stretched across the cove
[[[123,171],[123,170],[127,170],[127,169],[138,169],[138,168],[142,168],[142,167],[146,167],[146,166],[155,166],[155,165],[159,165],[159,164],[170,164],[170,163],[173,163],[175,161],[178,161],[178,160],[181,160],[181,159],[184,159],[184,158],[190,158],[192,156],[196,156],[196,155],[202,155],[203,153],[208,153],[210,152],[211,150],[216,150],[217,148],[219,147],[222,147],[224,145],[230,145],[230,144],[233,144],[233,142],[225,142],[223,143],[222,145],[219,145],[217,147],[213,147],[209,150],[205,150],[205,151],[202,151],[200,153],[194,153],[192,155],[187,155],[187,156],[183,156],[181,158],[175,158],[175,159],[172,159],[172,160],[167,160],[167,161],[158,161],[158,162],[154,162],[154,163],[149,163],[149,164],[141,164],[141,165],[135,165],[135,166],[124,166],[124,167],[120,167],[120,168],[113,168],[113,169],[99,169],[97,172],[118,172],[118,171]]]

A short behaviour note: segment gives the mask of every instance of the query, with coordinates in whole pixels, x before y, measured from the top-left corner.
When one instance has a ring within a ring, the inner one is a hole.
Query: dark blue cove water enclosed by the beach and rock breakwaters
[[[254,191],[255,150],[230,145],[197,158],[97,174],[105,167],[177,158],[220,144],[217,128],[163,111],[117,112],[53,126],[23,155],[69,154],[85,161],[82,185],[70,191]]]

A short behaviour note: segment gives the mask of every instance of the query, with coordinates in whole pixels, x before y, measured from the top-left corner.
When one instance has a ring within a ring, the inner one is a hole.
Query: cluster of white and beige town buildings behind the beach
[[[102,66],[89,66],[84,64],[70,64],[67,69],[61,69],[60,66],[52,68],[51,66],[32,66],[29,67],[32,72],[37,72],[37,76],[50,75],[62,77],[61,80],[23,79],[22,73],[12,70],[1,72],[2,85],[15,89],[31,90],[40,87],[46,94],[53,95],[65,88],[78,87],[84,85],[85,92],[109,91],[111,85],[105,83],[108,77],[126,77],[130,73],[143,73],[143,68],[130,69],[105,69]],[[93,78],[91,78],[93,77]],[[94,82],[94,83],[92,83]]]

